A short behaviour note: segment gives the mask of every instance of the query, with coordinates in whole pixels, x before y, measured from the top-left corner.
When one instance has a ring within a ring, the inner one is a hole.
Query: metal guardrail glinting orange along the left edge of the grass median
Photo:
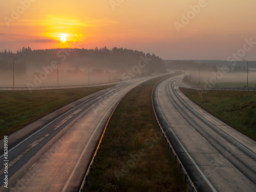
[[[102,139],[104,138],[105,132],[106,132],[106,130],[108,129],[108,126],[109,126],[109,122],[110,122],[110,120],[112,119],[112,116],[113,116],[113,114],[114,114],[114,112],[115,112],[117,106],[119,105],[119,103],[120,103],[121,100],[123,99],[123,97],[124,97],[124,96],[122,96],[122,98],[118,101],[118,103],[116,104],[116,106],[115,106],[113,112],[111,113],[111,115],[110,115],[108,121],[106,122],[106,125],[105,125],[105,127],[104,127],[104,130],[103,130],[103,132],[102,132],[102,134],[101,134],[101,137],[100,137],[100,139],[99,139],[99,141],[98,141],[98,144],[97,144],[97,146],[95,147],[95,151],[94,151],[94,154],[93,154],[93,156],[92,156],[92,158],[91,158],[91,162],[90,162],[90,164],[89,164],[89,166],[88,166],[88,168],[87,168],[87,172],[86,172],[86,174],[85,174],[85,176],[84,176],[84,178],[83,178],[83,181],[82,181],[82,184],[81,184],[81,186],[80,186],[79,192],[82,192],[82,191],[83,191],[82,189],[83,189],[84,184],[88,185],[88,174],[89,174],[89,173],[92,173],[92,165],[95,164],[95,159],[96,159],[96,156],[97,156],[97,154],[98,154],[98,151],[100,150],[101,143],[102,143]]]

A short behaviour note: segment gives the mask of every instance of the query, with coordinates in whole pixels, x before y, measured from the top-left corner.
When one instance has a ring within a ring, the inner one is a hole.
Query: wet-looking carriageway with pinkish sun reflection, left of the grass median
[[[72,102],[8,136],[8,188],[0,191],[78,191],[106,120],[131,89],[157,76],[122,82]],[[4,154],[4,141],[0,141]],[[3,155],[0,161],[4,162]]]

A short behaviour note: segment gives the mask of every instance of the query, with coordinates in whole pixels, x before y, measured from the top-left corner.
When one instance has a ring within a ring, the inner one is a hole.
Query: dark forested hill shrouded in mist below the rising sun
[[[51,72],[51,74],[47,74],[47,78],[40,79],[42,82],[36,84],[55,86],[57,70],[45,70],[50,69],[52,63],[55,63],[55,66],[59,63],[58,75],[61,86],[87,84],[88,69],[91,83],[126,80],[123,79],[124,73],[129,72],[131,77],[166,72],[161,58],[141,51],[116,47],[113,49],[96,47],[95,49],[45,50],[23,47],[16,53],[6,50],[0,52],[0,87],[11,86],[13,62],[15,79],[17,79],[16,86],[19,87],[25,87],[27,82],[33,83],[45,72]]]

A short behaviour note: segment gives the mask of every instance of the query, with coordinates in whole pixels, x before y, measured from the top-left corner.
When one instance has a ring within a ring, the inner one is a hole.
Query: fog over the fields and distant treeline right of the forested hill
[[[207,64],[206,64],[207,63]],[[255,61],[249,61],[248,86],[256,86],[256,65]],[[187,82],[191,82],[206,88],[217,87],[244,87],[247,84],[247,63],[237,61],[230,63],[220,60],[168,60],[165,61],[168,69],[176,69],[184,72]],[[217,72],[217,69],[218,72]],[[190,75],[191,71],[191,75]],[[217,72],[217,76],[216,76]]]

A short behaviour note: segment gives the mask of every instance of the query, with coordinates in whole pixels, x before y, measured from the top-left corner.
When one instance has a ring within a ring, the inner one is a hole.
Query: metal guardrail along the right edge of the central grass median
[[[167,77],[167,78],[169,78],[169,77]],[[185,175],[185,178],[184,178],[185,182],[188,180],[188,182],[189,182],[189,184],[190,184],[190,186],[191,186],[193,192],[194,192],[194,191],[195,191],[195,192],[199,192],[199,190],[198,190],[197,187],[195,186],[193,180],[192,180],[191,177],[189,176],[189,174],[188,174],[186,168],[184,167],[184,165],[183,165],[181,159],[179,158],[178,154],[176,153],[176,151],[175,151],[173,145],[170,143],[168,137],[166,136],[165,131],[163,130],[163,127],[161,126],[161,123],[160,123],[160,121],[159,121],[158,115],[157,115],[156,110],[155,110],[155,105],[154,105],[154,102],[153,102],[153,100],[154,100],[154,90],[155,90],[155,87],[157,86],[157,84],[158,84],[159,82],[161,82],[161,81],[163,81],[163,80],[165,80],[165,79],[167,79],[167,78],[164,78],[164,79],[158,81],[158,82],[155,84],[155,86],[154,86],[154,88],[153,88],[153,90],[152,90],[152,97],[151,97],[152,108],[153,108],[153,111],[154,111],[154,114],[155,114],[155,117],[156,117],[157,125],[158,125],[159,129],[161,130],[161,132],[162,132],[162,134],[163,134],[163,138],[165,138],[165,142],[167,142],[168,150],[170,149],[170,153],[175,155],[175,162],[178,161],[179,167],[180,167],[180,172],[181,172],[181,169],[183,170],[183,173],[184,173],[184,175]]]

